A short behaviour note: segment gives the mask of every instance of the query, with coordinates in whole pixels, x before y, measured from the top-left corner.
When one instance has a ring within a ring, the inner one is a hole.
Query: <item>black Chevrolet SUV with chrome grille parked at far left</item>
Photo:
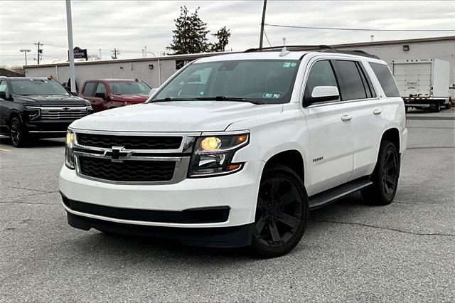
[[[14,147],[30,139],[65,137],[76,119],[92,112],[90,102],[48,78],[0,77],[0,133]]]

